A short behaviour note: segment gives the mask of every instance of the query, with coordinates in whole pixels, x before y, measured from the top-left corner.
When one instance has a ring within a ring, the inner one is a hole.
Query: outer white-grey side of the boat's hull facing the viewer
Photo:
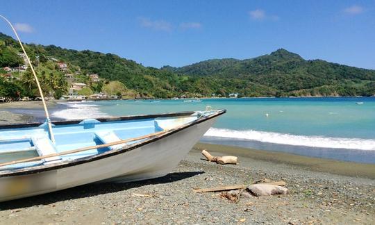
[[[130,182],[165,176],[188,154],[216,117],[142,147],[88,163],[0,178],[0,201],[54,192],[97,181]]]

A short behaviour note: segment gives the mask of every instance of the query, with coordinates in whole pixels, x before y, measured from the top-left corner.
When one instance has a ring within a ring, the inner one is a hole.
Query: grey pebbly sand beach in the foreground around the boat
[[[217,156],[233,154],[239,157],[240,163],[207,162],[203,160],[201,149],[208,149]],[[0,203],[0,224],[374,222],[374,165],[331,164],[318,158],[286,155],[199,143],[172,174],[163,178],[133,183],[94,183]],[[330,171],[335,174],[328,173]],[[238,203],[233,203],[219,192],[193,192],[194,188],[249,184],[264,178],[285,181],[290,194],[242,197]]]

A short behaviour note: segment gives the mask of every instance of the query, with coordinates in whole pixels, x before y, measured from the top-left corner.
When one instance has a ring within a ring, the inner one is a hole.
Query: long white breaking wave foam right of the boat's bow
[[[322,136],[291,135],[265,131],[235,131],[224,128],[210,128],[205,136],[254,140],[275,144],[289,144],[306,147],[375,150],[374,139],[360,138],[328,138]]]

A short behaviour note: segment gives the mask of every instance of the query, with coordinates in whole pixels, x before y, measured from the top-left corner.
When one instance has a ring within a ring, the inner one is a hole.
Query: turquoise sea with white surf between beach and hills
[[[375,163],[375,98],[249,98],[64,103],[63,119],[225,108],[203,142]]]

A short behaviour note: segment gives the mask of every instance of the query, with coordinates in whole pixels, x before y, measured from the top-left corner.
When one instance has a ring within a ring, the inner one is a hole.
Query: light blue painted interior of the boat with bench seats
[[[47,123],[36,127],[0,128],[0,163],[35,156],[47,156],[51,153],[62,153],[82,147],[93,147],[99,144],[136,138],[188,124],[199,119],[201,116],[202,113],[192,113],[184,117],[158,117],[109,122],[99,122],[97,119],[84,119],[78,124],[53,126],[55,144],[49,138]],[[138,142],[140,141],[142,140]],[[128,142],[126,144],[133,143]],[[111,149],[121,149],[126,144],[117,144],[63,156],[54,156],[27,163],[6,165],[0,167],[0,170],[19,169],[36,165],[60,163],[65,160],[75,160],[77,158],[94,156]]]

